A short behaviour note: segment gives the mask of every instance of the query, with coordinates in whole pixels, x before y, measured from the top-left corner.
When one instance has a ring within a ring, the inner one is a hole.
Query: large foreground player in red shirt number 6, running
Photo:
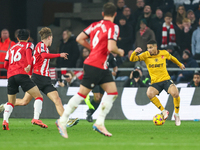
[[[119,27],[113,23],[116,16],[115,5],[111,2],[106,3],[103,6],[102,16],[103,20],[92,23],[76,38],[79,44],[90,49],[91,52],[84,61],[84,76],[79,92],[69,100],[63,115],[56,121],[58,130],[64,138],[68,138],[66,124],[69,115],[74,112],[95,85],[100,85],[107,95],[102,100],[99,116],[93,129],[105,136],[112,136],[106,130],[104,121],[118,92],[112,74],[107,69],[107,59],[110,52],[123,56],[124,50],[118,49],[116,45]],[[87,41],[88,38],[90,38],[90,44]]]

